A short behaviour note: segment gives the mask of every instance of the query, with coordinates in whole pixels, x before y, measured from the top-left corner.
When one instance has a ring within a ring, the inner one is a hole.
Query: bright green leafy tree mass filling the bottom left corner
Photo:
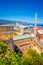
[[[0,65],[20,65],[20,55],[10,51],[7,44],[0,42]]]

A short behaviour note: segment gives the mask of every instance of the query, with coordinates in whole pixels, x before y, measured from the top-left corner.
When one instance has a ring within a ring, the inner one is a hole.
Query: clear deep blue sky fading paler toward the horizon
[[[0,19],[43,24],[43,0],[0,0]]]

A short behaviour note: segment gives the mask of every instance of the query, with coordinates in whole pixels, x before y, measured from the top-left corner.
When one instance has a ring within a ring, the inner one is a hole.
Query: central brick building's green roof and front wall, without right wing
[[[34,39],[34,36],[31,34],[13,36],[14,45],[16,45],[23,52],[23,54],[31,48],[33,44],[32,39]]]

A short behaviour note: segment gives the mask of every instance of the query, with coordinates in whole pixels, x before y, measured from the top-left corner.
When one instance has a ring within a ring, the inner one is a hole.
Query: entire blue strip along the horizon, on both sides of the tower
[[[11,24],[19,23],[19,24],[22,24],[22,25],[34,26],[33,23],[21,22],[21,21],[10,21],[10,20],[0,19],[0,25],[1,25],[1,24],[10,24],[10,23],[11,23]],[[42,26],[42,27],[43,27],[43,24],[37,24],[37,26]]]

